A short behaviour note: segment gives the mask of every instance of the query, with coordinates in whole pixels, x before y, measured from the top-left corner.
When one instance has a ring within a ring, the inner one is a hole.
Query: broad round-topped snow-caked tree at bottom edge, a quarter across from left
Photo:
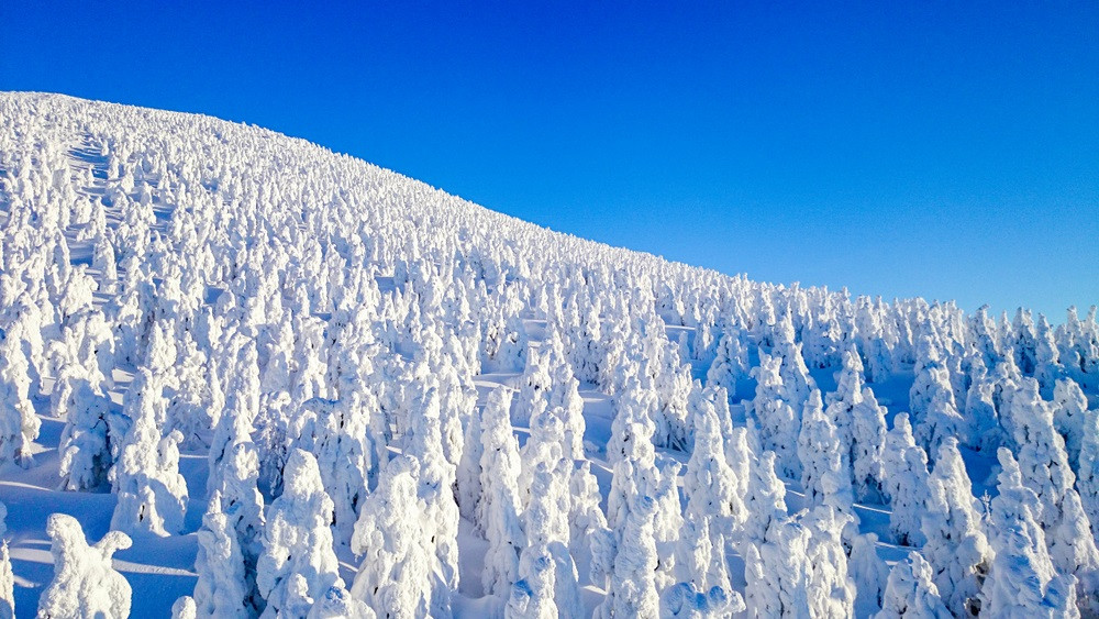
[[[332,548],[332,499],[324,491],[317,458],[295,450],[284,471],[282,494],[267,510],[264,552],[256,564],[259,595],[267,600],[264,615],[291,615],[300,594],[289,589],[290,576],[304,577],[304,596],[318,599],[333,585],[343,586],[340,563]]]

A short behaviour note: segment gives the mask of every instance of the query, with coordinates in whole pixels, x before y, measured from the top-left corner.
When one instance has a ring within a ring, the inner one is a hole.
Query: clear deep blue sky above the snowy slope
[[[0,89],[248,121],[756,279],[1099,302],[1094,1],[130,4],[3,2]]]

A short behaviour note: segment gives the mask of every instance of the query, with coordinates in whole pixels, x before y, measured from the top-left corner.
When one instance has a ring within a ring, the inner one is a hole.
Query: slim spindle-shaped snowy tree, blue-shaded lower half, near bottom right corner
[[[934,568],[932,577],[947,607],[967,616],[980,612],[978,593],[992,559],[972,487],[957,440],[945,440],[928,487],[922,554]]]

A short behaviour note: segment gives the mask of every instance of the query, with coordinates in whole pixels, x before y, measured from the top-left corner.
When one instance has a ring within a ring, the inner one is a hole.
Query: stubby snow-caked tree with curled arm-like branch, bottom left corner
[[[76,518],[54,513],[46,523],[49,552],[54,557],[54,578],[38,599],[38,617],[130,616],[130,583],[114,571],[111,556],[130,548],[121,531],[110,531],[95,545],[88,545]]]

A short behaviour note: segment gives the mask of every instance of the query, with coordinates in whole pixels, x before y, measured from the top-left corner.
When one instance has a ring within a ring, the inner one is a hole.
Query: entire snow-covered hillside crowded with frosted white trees
[[[0,619],[1091,614],[1097,395],[1094,308],[755,283],[0,93]]]

